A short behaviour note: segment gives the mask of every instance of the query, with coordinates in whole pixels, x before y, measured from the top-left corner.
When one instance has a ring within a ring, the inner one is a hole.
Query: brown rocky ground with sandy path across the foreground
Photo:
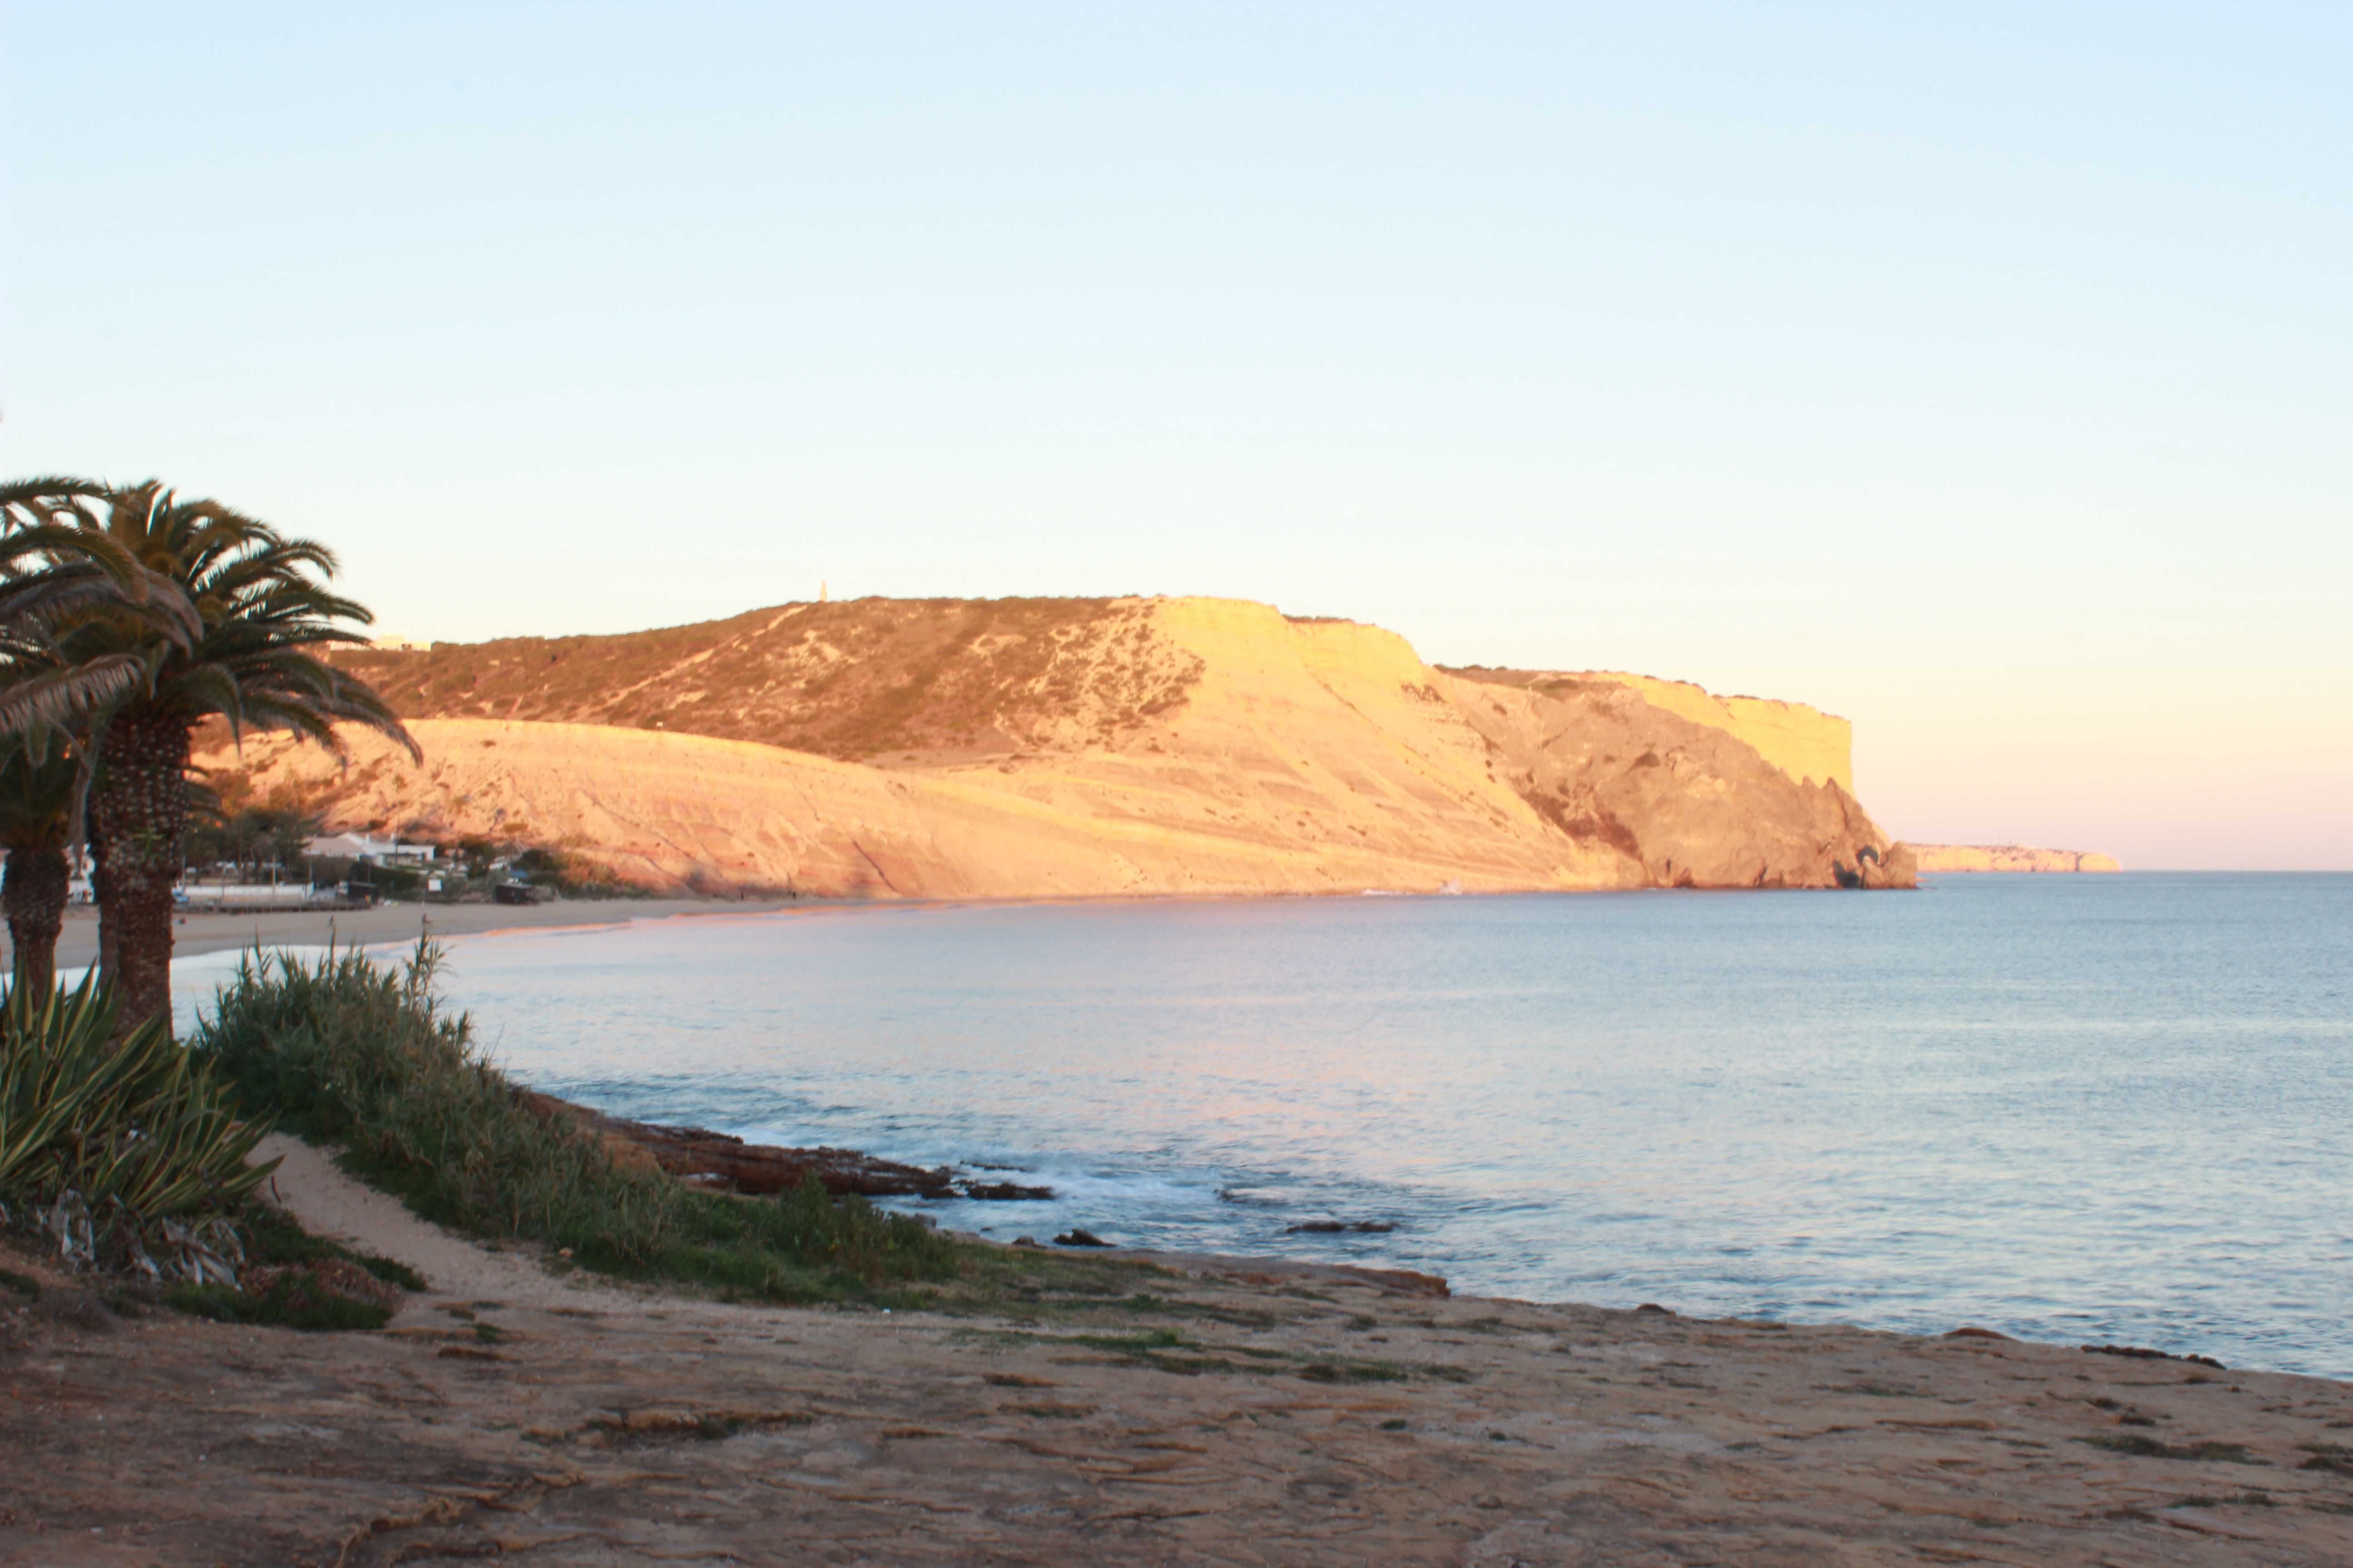
[[[47,1274],[0,1324],[0,1561],[2353,1561],[2353,1387],[2315,1378],[1233,1260],[729,1307],[282,1175],[438,1288],[299,1335]]]

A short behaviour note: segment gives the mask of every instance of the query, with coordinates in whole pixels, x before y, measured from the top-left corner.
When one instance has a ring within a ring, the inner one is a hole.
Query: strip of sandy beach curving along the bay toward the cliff
[[[261,914],[181,914],[172,933],[172,952],[193,957],[228,947],[311,947],[325,945],[329,931],[341,943],[405,943],[416,931],[435,936],[475,936],[522,926],[607,926],[631,919],[668,919],[673,914],[767,914],[807,907],[812,900],[732,900],[732,898],[565,898],[555,903],[381,903],[374,910],[268,910]],[[66,912],[66,931],[56,940],[59,969],[82,969],[99,957],[99,914],[89,907]]]

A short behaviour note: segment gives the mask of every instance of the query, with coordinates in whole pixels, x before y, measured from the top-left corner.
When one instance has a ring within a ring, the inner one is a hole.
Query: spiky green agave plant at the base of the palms
[[[209,1063],[155,1016],[115,1039],[115,994],[0,997],[0,1204],[38,1215],[68,1258],[118,1237],[188,1253],[202,1220],[240,1204],[278,1161],[249,1164],[268,1131],[240,1121]],[[176,1227],[174,1229],[167,1229]]]

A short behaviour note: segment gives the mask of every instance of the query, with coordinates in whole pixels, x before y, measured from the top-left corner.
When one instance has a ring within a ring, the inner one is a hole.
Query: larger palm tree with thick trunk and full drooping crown
[[[75,512],[75,531],[141,574],[162,578],[195,611],[195,635],[176,639],[153,614],[89,602],[56,630],[56,649],[80,670],[132,656],[141,677],[94,717],[96,783],[89,827],[96,846],[101,966],[122,994],[122,1027],[172,1001],[172,889],[188,827],[191,736],[209,717],[231,733],[292,729],[341,752],[339,722],[367,724],[421,757],[384,698],[327,665],[318,651],[362,642],[365,607],[325,588],[334,555],[287,538],[219,501],[181,501],[160,482],[101,489]],[[0,715],[5,717],[5,715]]]

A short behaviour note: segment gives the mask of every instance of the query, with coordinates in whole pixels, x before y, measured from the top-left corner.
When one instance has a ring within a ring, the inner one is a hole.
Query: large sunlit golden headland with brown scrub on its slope
[[[1849,726],[1617,672],[1440,670],[1240,599],[849,599],[339,658],[353,733],[200,762],[334,827],[649,889],[871,898],[1911,886]]]

